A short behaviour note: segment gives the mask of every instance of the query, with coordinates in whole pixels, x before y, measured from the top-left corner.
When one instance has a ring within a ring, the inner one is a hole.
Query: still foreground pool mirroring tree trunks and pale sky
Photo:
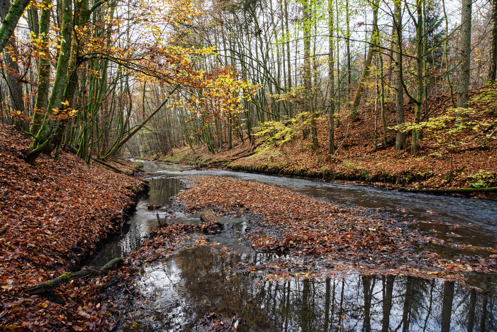
[[[497,329],[496,296],[464,285],[375,275],[263,282],[236,269],[250,255],[195,247],[147,268],[141,287],[151,309],[139,329],[199,331],[209,312],[237,313],[247,323],[239,331]]]

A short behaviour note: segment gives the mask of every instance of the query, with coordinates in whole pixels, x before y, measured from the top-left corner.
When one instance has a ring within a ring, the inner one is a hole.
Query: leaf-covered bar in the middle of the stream
[[[196,176],[188,177],[188,181],[192,187],[177,195],[186,211],[214,208],[262,218],[240,238],[248,240],[254,250],[326,256],[375,272],[435,274],[449,279],[462,278],[466,272],[497,272],[497,251],[492,248],[479,248],[489,252],[488,257],[467,256],[460,251],[458,257],[445,259],[425,247],[426,243],[446,245],[442,239],[410,230],[405,223],[381,215],[366,216],[360,207],[336,206],[286,189],[233,178]]]

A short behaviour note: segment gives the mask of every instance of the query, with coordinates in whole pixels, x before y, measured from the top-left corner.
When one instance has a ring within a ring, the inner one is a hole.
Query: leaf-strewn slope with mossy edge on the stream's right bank
[[[334,156],[328,154],[328,121],[317,120],[319,153],[312,153],[309,135],[291,132],[292,140],[279,144],[268,135],[258,137],[251,145],[245,138],[217,147],[211,154],[204,145],[173,149],[172,156],[146,155],[142,159],[173,162],[201,167],[224,167],[255,173],[322,178],[326,181],[373,183],[390,188],[458,189],[497,186],[497,87],[470,91],[470,114],[466,126],[457,129],[455,117],[443,119],[451,109],[449,95],[430,96],[428,114],[438,125],[426,128],[420,139],[420,150],[410,154],[411,138],[407,133],[405,149],[395,150],[395,131],[387,130],[385,149],[373,144],[375,105],[366,104],[356,120],[338,115],[335,128]],[[414,105],[405,104],[406,122],[412,122]],[[378,111],[376,111],[378,112]],[[385,107],[387,127],[395,125],[395,108]],[[382,145],[381,120],[377,117],[377,145]],[[425,113],[421,121],[425,121]],[[433,124],[434,122],[431,122]],[[291,127],[287,127],[291,130]],[[245,131],[246,132],[246,131]],[[449,137],[449,133],[451,133]],[[284,138],[284,136],[282,136]],[[496,193],[471,194],[474,198],[495,199]]]

